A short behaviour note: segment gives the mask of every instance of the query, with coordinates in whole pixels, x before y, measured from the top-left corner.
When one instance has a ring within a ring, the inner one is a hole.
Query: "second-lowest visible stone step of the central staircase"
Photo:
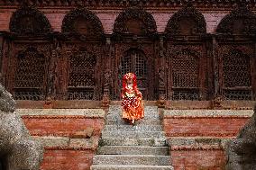
[[[93,164],[169,166],[169,159],[169,156],[151,155],[96,155]]]

